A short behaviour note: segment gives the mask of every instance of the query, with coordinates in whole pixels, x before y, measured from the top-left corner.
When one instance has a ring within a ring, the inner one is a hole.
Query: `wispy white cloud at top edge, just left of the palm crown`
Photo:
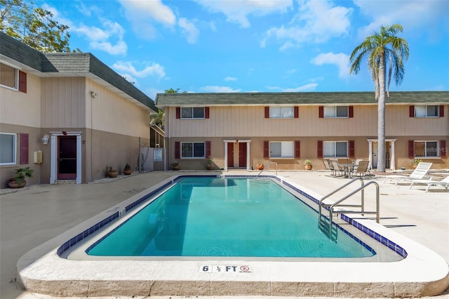
[[[322,43],[347,34],[352,8],[335,6],[328,0],[300,0],[298,5],[290,24],[267,30],[261,46],[266,45],[267,39],[277,39],[283,41],[280,49],[285,51],[303,43]]]

